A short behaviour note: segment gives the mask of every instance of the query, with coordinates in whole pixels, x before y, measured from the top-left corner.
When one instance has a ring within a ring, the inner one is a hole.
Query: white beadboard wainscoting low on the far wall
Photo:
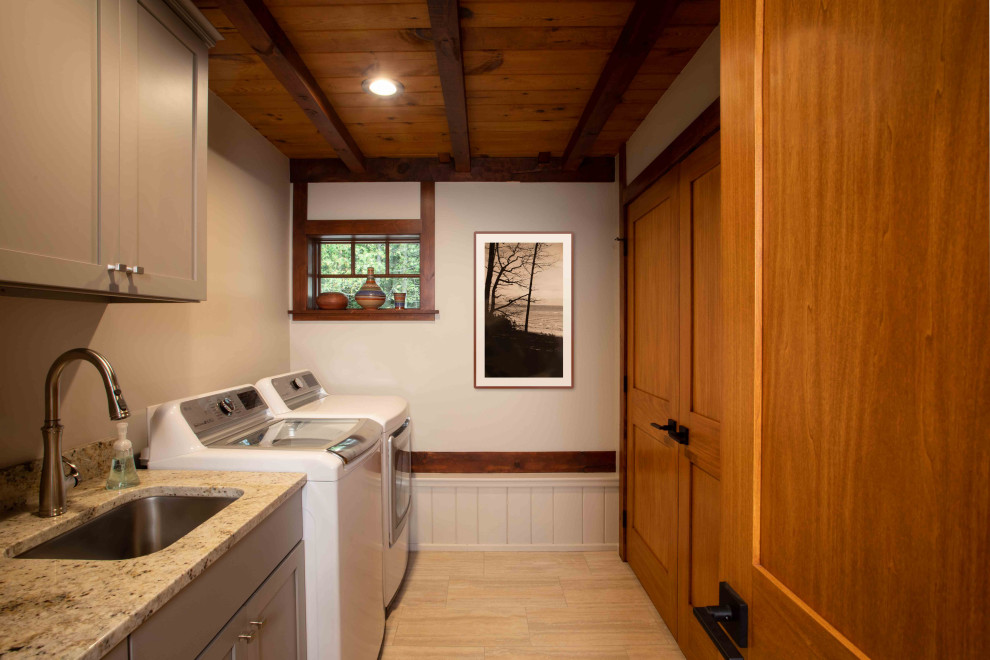
[[[617,474],[414,474],[413,550],[612,550]]]

